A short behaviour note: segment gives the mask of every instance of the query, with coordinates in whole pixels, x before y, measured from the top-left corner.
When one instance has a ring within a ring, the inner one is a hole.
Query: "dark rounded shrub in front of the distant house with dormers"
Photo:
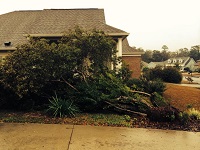
[[[182,81],[182,74],[173,67],[167,67],[163,69],[162,79],[169,83],[180,83]]]

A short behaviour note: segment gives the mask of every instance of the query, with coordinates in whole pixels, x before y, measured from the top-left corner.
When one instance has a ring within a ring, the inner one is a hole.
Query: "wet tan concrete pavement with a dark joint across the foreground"
[[[199,150],[200,132],[0,123],[0,150]]]

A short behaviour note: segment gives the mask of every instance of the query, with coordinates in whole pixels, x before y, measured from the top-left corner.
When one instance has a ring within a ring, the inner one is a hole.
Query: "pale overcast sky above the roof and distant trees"
[[[103,8],[106,23],[129,33],[130,46],[170,51],[200,45],[200,0],[0,0],[16,10]]]

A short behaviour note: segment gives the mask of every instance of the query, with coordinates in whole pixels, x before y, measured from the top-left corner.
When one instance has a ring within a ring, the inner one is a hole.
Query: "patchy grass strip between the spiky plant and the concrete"
[[[81,113],[75,117],[54,118],[43,112],[12,112],[1,111],[0,122],[17,123],[46,123],[46,124],[78,124],[95,126],[123,126],[133,127],[137,118],[129,115],[119,115],[111,113]]]

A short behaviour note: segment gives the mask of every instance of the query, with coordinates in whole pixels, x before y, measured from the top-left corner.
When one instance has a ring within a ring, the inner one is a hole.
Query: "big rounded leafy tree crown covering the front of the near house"
[[[58,81],[64,80],[68,83],[65,88],[69,88],[72,82],[108,69],[106,62],[117,60],[115,45],[102,31],[84,31],[78,27],[66,32],[57,44],[31,38],[6,58],[2,82],[19,97],[48,96],[63,88]]]

